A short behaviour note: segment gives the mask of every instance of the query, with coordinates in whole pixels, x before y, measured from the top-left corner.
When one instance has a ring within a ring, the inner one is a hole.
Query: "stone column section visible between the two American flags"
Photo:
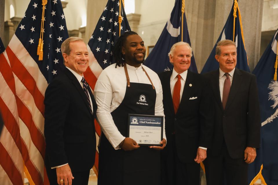
[[[96,28],[96,24],[102,14],[107,1],[91,0],[87,4],[87,25],[85,31],[85,43],[90,40],[91,35]]]

